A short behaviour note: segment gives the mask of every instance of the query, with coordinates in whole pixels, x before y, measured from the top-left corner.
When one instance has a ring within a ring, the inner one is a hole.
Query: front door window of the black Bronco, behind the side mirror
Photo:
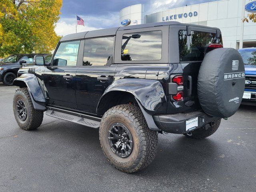
[[[54,55],[54,66],[76,66],[80,41],[62,42]]]

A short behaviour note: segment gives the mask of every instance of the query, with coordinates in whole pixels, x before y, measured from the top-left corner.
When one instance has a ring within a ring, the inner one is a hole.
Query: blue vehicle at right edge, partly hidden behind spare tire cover
[[[245,88],[242,104],[256,105],[256,48],[242,48],[241,54],[245,68]]]

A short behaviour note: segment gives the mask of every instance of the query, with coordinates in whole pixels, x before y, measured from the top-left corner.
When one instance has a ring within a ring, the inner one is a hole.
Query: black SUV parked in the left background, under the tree
[[[11,86],[21,66],[34,65],[35,55],[47,56],[48,54],[14,54],[2,60],[0,62],[0,82]]]

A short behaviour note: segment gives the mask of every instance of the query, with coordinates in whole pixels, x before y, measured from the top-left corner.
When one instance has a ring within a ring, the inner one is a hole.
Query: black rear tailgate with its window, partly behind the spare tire
[[[219,30],[213,28],[187,26],[178,31],[179,60],[183,69],[184,104],[200,109],[197,96],[198,72],[208,44],[222,44]],[[217,38],[218,36],[218,38]]]

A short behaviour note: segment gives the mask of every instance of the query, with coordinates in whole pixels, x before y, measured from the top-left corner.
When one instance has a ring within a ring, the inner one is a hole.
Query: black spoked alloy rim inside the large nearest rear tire
[[[108,142],[112,151],[121,158],[128,157],[133,148],[133,138],[122,123],[114,123],[108,129]]]

